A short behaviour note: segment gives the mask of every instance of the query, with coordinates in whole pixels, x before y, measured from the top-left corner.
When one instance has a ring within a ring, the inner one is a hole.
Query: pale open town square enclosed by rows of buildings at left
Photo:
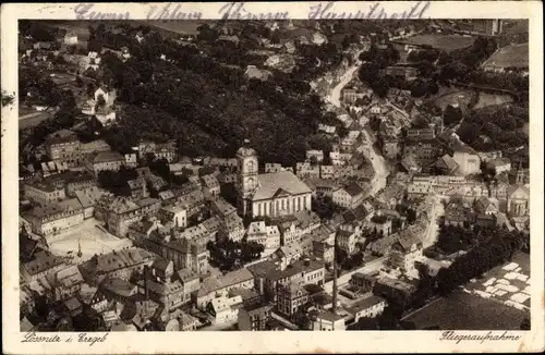
[[[96,225],[97,221],[90,218],[76,228],[61,232],[60,237],[49,243],[49,249],[59,256],[75,256],[80,242],[83,254],[81,260],[87,260],[95,254],[106,254],[132,245],[131,240],[117,238]],[[68,254],[69,252],[72,253]]]

